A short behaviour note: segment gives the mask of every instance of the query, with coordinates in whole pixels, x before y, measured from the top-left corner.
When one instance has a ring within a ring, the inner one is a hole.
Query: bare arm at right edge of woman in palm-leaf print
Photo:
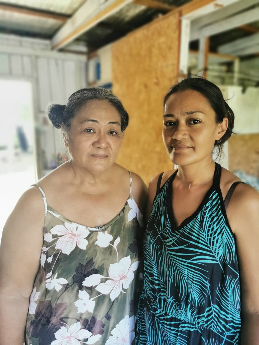
[[[241,279],[241,343],[259,343],[259,193],[238,185],[227,209]]]

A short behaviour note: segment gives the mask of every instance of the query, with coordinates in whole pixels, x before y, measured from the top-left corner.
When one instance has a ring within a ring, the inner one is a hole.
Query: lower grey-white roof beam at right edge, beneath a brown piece
[[[251,36],[240,38],[230,43],[221,45],[218,48],[218,52],[223,54],[239,55],[237,52],[240,52],[240,50],[256,45],[259,45],[259,32]]]

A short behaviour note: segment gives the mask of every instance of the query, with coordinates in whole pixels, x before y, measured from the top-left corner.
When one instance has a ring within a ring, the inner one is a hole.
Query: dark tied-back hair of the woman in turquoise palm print
[[[187,78],[173,85],[170,90],[166,93],[164,97],[164,107],[167,99],[176,92],[194,90],[200,92],[205,98],[207,98],[210,103],[211,108],[214,110],[216,115],[216,122],[220,124],[224,117],[228,118],[228,128],[226,133],[216,140],[214,147],[217,147],[219,154],[222,153],[222,146],[233,133],[234,127],[234,113],[232,109],[228,106],[228,103],[224,100],[221,90],[213,84],[211,81],[204,78]]]

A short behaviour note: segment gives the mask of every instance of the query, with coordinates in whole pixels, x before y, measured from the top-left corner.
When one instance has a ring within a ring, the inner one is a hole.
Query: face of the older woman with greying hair
[[[68,151],[91,172],[110,168],[122,144],[121,116],[108,101],[88,101],[71,121]]]

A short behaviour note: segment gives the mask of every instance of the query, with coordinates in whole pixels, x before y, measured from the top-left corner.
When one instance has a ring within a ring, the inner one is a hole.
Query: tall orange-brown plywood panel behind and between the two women
[[[130,115],[118,164],[146,184],[171,170],[162,141],[163,97],[177,82],[180,45],[178,12],[142,27],[112,46],[113,93]]]

